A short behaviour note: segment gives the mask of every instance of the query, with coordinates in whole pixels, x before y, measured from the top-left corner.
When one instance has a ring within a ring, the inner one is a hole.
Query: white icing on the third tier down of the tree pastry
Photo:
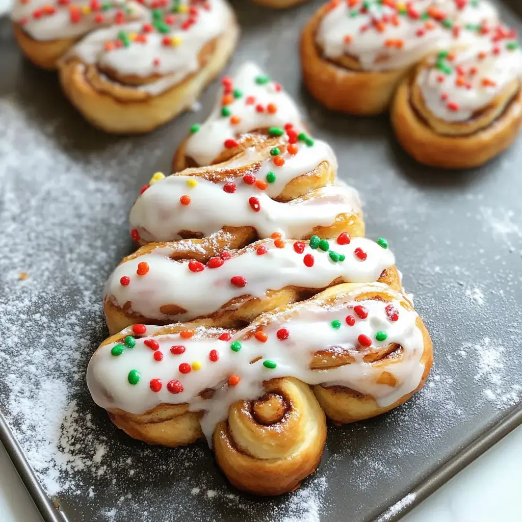
[[[268,252],[258,255],[258,245],[266,246]],[[120,307],[131,302],[129,312],[139,313],[152,319],[189,321],[195,317],[208,315],[220,309],[231,299],[245,296],[244,302],[253,298],[265,298],[268,290],[278,290],[287,286],[303,288],[324,288],[341,278],[343,282],[376,281],[383,270],[395,263],[395,257],[387,249],[366,238],[353,238],[347,245],[330,241],[331,250],[346,256],[343,262],[333,262],[327,252],[313,250],[306,242],[302,253],[295,252],[293,241],[287,241],[284,248],[277,248],[274,241],[258,242],[246,248],[239,256],[227,260],[219,268],[205,268],[192,272],[188,262],[178,262],[169,258],[173,248],[158,246],[150,253],[130,259],[119,265],[106,285],[106,299]],[[354,254],[361,248],[367,254],[360,260]],[[307,267],[303,258],[312,254],[314,265]],[[136,274],[138,263],[146,262],[149,271],[145,276]],[[128,286],[122,286],[120,279],[130,278]],[[243,276],[247,284],[238,288],[231,284],[234,276]],[[181,306],[187,313],[168,316],[160,312],[165,304]]]

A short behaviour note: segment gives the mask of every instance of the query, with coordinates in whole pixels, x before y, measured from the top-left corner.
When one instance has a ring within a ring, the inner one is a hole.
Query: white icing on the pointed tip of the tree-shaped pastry
[[[240,123],[232,125],[230,117],[221,115],[223,94],[220,91],[216,106],[205,123],[197,133],[188,138],[186,156],[192,158],[198,165],[209,165],[223,150],[224,141],[227,139],[233,139],[258,128],[282,127],[287,123],[293,124],[296,130],[301,129],[301,113],[292,98],[282,89],[278,91],[272,81],[264,85],[256,83],[255,79],[264,75],[263,70],[252,62],[244,63],[237,70],[232,78],[233,88],[239,89],[242,96],[235,99],[228,107],[232,115],[241,118]],[[254,97],[254,103],[247,103],[248,97]],[[277,112],[274,114],[266,110],[270,103],[277,107]],[[256,110],[258,104],[265,108],[263,112]]]

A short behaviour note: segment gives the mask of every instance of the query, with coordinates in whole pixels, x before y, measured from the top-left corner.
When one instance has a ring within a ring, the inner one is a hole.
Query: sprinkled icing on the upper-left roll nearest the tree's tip
[[[228,30],[232,18],[224,0],[193,1],[190,10],[175,15],[154,10],[147,13],[145,21],[92,32],[69,51],[69,56],[76,55],[86,64],[96,63],[118,75],[152,77],[136,89],[159,94],[200,68],[201,49]]]

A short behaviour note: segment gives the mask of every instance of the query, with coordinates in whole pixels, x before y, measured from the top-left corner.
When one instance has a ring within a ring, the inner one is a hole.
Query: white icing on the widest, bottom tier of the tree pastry
[[[367,291],[383,291],[394,297],[392,304],[398,310],[398,320],[389,321],[385,307],[389,303],[382,301],[355,301],[357,295]],[[106,409],[118,408],[123,411],[140,414],[160,404],[188,403],[191,410],[206,410],[201,420],[201,428],[211,440],[216,423],[227,417],[229,406],[237,400],[254,399],[263,395],[263,381],[277,377],[296,377],[309,384],[339,384],[357,390],[363,394],[371,394],[381,407],[392,405],[405,394],[411,393],[420,383],[424,365],[421,362],[424,350],[423,336],[416,325],[417,313],[404,309],[400,305],[403,298],[384,284],[373,283],[358,285],[350,289],[338,304],[320,306],[318,300],[305,301],[293,305],[288,312],[276,315],[263,331],[268,335],[266,342],[254,337],[243,340],[248,329],[233,335],[230,341],[206,339],[205,329],[196,330],[191,339],[182,339],[179,334],[159,335],[154,337],[163,353],[163,360],[156,361],[153,352],[144,345],[143,339],[137,339],[136,346],[126,348],[121,355],[114,357],[111,349],[116,343],[105,345],[94,353],[87,369],[87,385],[94,401]],[[324,304],[324,303],[323,303]],[[366,319],[360,319],[353,313],[353,306],[363,305],[367,311]],[[354,326],[348,326],[345,317],[355,317]],[[338,319],[339,329],[334,329],[331,322]],[[290,337],[284,341],[277,338],[279,328],[287,328]],[[385,331],[385,341],[375,340],[377,331]],[[155,327],[147,327],[147,334],[157,331]],[[128,328],[122,333],[131,334]],[[372,339],[372,347],[361,349],[359,335]],[[240,341],[241,350],[230,349],[234,341]],[[363,357],[375,348],[398,343],[402,346],[401,357],[393,359],[386,365],[366,363]],[[170,352],[173,345],[182,345],[186,351],[181,355]],[[219,360],[209,360],[210,350],[219,352]],[[355,361],[328,370],[311,370],[309,365],[313,354],[319,350],[348,352]],[[261,357],[257,362],[250,362]],[[274,361],[275,369],[263,365],[264,360]],[[178,367],[181,363],[199,362],[201,368],[182,374]],[[132,370],[140,375],[136,385],[128,383],[127,376]],[[377,383],[383,371],[391,373],[396,379],[395,387]],[[230,375],[241,378],[237,386],[223,386]],[[151,379],[160,378],[162,389],[155,393],[149,388]],[[167,383],[171,379],[180,381],[183,392],[171,394]],[[201,390],[213,388],[217,392],[211,399],[201,399]]]

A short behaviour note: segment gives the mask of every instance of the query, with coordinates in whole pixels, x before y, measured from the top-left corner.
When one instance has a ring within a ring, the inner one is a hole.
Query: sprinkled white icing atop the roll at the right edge
[[[492,35],[455,51],[441,51],[417,77],[426,108],[447,122],[464,122],[522,77],[522,52],[514,31]]]

